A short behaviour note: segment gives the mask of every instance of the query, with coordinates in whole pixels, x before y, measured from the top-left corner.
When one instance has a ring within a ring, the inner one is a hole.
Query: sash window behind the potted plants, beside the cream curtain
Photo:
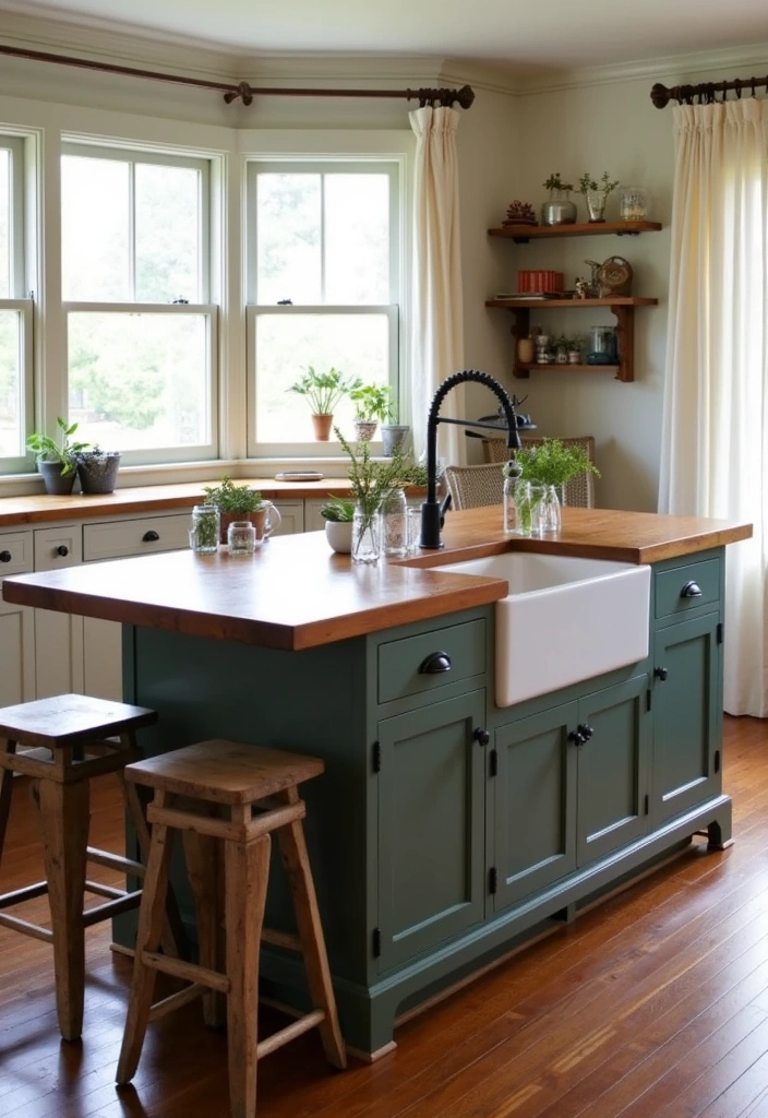
[[[248,169],[251,455],[333,454],[289,391],[307,367],[388,383],[400,369],[401,199],[395,160]],[[353,405],[335,424],[353,437]]]

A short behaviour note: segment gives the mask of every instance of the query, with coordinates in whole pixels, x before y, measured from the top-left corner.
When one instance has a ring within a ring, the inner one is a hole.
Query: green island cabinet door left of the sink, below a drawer
[[[378,723],[378,923],[385,970],[483,918],[484,691]]]

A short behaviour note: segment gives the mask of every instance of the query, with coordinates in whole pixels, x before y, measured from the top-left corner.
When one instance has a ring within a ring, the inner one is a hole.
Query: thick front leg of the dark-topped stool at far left
[[[85,897],[89,789],[87,780],[40,780],[40,827],[54,932],[56,1010],[61,1035],[83,1032],[85,998]]]

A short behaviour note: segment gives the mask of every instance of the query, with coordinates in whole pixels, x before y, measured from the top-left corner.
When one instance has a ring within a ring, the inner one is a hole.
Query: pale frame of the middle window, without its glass
[[[105,159],[115,162],[129,163],[129,190],[128,190],[128,253],[129,253],[129,284],[135,292],[135,167],[137,163],[146,163],[161,167],[183,167],[193,168],[200,172],[199,177],[199,209],[198,209],[198,245],[199,245],[199,296],[200,302],[190,303],[155,303],[142,300],[95,302],[92,300],[61,300],[63,311],[63,342],[64,342],[64,366],[63,366],[63,395],[65,400],[69,400],[69,319],[71,314],[171,314],[171,315],[202,315],[207,322],[207,344],[205,363],[208,370],[208,383],[204,407],[208,415],[208,430],[210,438],[202,442],[184,446],[155,446],[146,449],[121,449],[122,464],[132,465],[173,465],[185,462],[196,462],[200,459],[217,458],[220,449],[220,423],[219,423],[219,397],[221,392],[221,369],[220,369],[220,306],[212,301],[212,291],[215,286],[213,268],[213,241],[215,214],[212,202],[214,160],[194,151],[169,151],[166,149],[155,149],[154,146],[143,146],[135,143],[121,144],[115,141],[85,140],[81,136],[73,138],[64,135],[61,138],[61,159],[65,157],[79,157],[85,159]],[[64,230],[64,209],[59,209],[61,230]],[[68,404],[67,404],[68,411]]]

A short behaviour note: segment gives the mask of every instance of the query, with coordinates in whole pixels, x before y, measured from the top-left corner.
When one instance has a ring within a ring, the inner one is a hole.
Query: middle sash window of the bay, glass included
[[[63,148],[68,416],[128,463],[215,454],[210,178],[204,159]]]

